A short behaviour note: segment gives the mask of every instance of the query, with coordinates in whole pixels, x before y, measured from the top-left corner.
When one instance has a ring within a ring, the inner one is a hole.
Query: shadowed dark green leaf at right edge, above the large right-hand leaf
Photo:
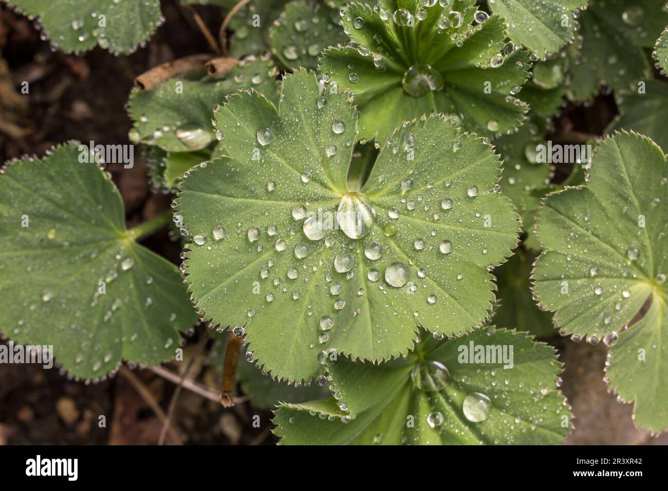
[[[643,94],[631,92],[617,95],[620,115],[606,129],[633,130],[654,140],[661,148],[668,148],[668,84],[648,80]]]

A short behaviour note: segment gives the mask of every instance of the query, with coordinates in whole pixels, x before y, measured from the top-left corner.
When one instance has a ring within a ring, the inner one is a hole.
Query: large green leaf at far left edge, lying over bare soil
[[[122,359],[168,359],[197,317],[176,267],[134,242],[113,182],[79,156],[68,144],[0,176],[0,309],[11,339],[98,379]]]

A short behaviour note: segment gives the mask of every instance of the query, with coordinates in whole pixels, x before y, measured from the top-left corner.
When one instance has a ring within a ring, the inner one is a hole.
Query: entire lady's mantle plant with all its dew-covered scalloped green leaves
[[[164,22],[47,3],[12,5],[67,53]],[[282,444],[561,444],[569,336],[668,428],[663,1],[206,3],[216,53],[137,78],[130,145],[6,162],[3,335],[88,382],[178,363],[206,325],[223,404],[238,382]],[[611,93],[619,116],[577,126]],[[108,168],[134,146],[173,201],[126,226]],[[140,243],[163,226],[176,265]]]

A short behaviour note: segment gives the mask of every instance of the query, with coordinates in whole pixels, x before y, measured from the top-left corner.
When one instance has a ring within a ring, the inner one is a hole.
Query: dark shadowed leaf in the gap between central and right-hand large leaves
[[[532,298],[529,279],[536,254],[518,248],[507,263],[494,269],[499,305],[492,320],[500,327],[513,326],[534,336],[556,335],[552,314],[538,309]]]

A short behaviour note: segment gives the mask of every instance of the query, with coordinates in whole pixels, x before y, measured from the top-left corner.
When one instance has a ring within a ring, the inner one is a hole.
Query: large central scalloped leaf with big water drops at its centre
[[[357,175],[347,96],[321,94],[299,71],[279,108],[230,96],[216,113],[230,158],[190,172],[178,196],[186,228],[206,238],[186,271],[207,319],[247,323],[255,358],[290,381],[321,373],[325,350],[406,353],[415,319],[448,335],[482,325],[494,301],[486,266],[518,240],[490,144],[424,118],[381,148],[360,189],[347,183]]]

